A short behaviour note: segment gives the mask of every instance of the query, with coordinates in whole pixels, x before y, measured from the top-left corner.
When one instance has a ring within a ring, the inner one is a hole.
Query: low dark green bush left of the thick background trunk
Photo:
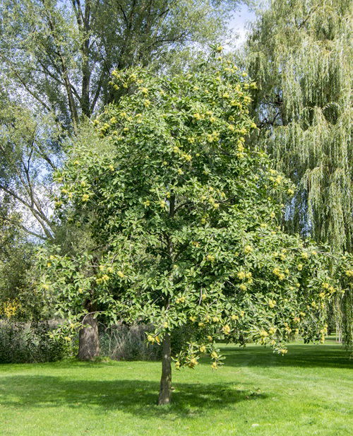
[[[64,339],[49,337],[53,322],[0,321],[0,363],[54,362],[73,354]]]

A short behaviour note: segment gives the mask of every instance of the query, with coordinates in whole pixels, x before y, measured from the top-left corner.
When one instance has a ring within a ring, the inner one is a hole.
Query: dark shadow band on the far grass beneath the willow
[[[340,345],[289,345],[286,355],[273,353],[271,348],[249,346],[222,348],[227,356],[225,365],[258,367],[328,367],[353,369],[349,352]]]

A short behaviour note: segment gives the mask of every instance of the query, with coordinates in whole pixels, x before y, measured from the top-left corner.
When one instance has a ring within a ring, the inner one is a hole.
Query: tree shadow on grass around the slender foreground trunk
[[[192,417],[239,401],[266,397],[257,391],[241,390],[231,383],[177,383],[172,404],[161,408],[156,403],[158,390],[159,383],[149,381],[71,381],[64,377],[20,375],[0,379],[0,403],[16,409],[100,406],[104,411],[120,410],[138,416]]]

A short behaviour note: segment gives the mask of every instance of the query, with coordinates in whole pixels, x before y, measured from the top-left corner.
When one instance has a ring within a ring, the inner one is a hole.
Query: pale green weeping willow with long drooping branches
[[[352,252],[352,2],[273,0],[247,43],[255,139],[297,185],[285,225]],[[344,316],[352,295],[342,302]],[[344,322],[352,342],[351,318]]]

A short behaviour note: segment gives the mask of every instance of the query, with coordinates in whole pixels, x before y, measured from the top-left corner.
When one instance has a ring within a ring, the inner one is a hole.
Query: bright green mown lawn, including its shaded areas
[[[334,341],[223,352],[221,370],[174,371],[162,408],[160,363],[0,365],[0,435],[352,435],[353,365]]]

